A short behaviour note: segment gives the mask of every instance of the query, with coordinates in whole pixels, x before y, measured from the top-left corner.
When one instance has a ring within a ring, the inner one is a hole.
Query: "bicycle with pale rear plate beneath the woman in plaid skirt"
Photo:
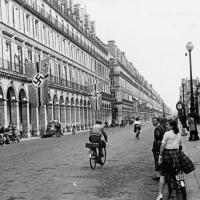
[[[168,199],[172,197],[172,192],[175,190],[177,200],[187,200],[187,192],[185,185],[185,176],[182,170],[178,168],[170,169],[166,176],[168,185]]]

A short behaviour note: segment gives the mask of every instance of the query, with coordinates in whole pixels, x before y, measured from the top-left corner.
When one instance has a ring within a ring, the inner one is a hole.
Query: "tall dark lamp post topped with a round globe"
[[[191,52],[194,48],[194,45],[192,44],[192,42],[188,42],[186,45],[186,49],[189,52],[189,64],[190,64],[190,101],[191,101],[191,105],[190,105],[190,115],[191,117],[194,118],[194,124],[195,124],[195,128],[196,128],[196,134],[198,136],[198,131],[197,131],[197,124],[196,124],[196,115],[194,113],[194,94],[193,94],[193,79],[192,79],[192,59],[191,59]]]

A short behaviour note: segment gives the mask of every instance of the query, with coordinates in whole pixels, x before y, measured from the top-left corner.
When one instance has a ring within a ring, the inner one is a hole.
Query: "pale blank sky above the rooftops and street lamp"
[[[96,35],[114,40],[173,111],[182,78],[200,77],[200,0],[74,0],[96,21]]]

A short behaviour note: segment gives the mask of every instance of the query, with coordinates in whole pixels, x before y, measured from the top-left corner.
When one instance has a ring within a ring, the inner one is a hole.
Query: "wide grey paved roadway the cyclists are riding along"
[[[127,126],[107,130],[107,162],[95,170],[88,162],[87,133],[0,148],[0,199],[155,199],[152,126],[143,125],[140,141],[135,140],[132,129]]]

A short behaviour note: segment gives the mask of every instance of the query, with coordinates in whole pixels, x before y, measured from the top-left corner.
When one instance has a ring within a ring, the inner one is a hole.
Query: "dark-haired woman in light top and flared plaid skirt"
[[[165,176],[169,171],[174,168],[183,170],[188,174],[194,170],[194,164],[192,161],[181,151],[182,138],[179,133],[177,122],[170,120],[166,123],[167,132],[165,132],[162,144],[160,147],[159,161],[160,164],[160,182],[159,182],[159,194],[156,200],[163,199],[163,189],[165,185]]]

